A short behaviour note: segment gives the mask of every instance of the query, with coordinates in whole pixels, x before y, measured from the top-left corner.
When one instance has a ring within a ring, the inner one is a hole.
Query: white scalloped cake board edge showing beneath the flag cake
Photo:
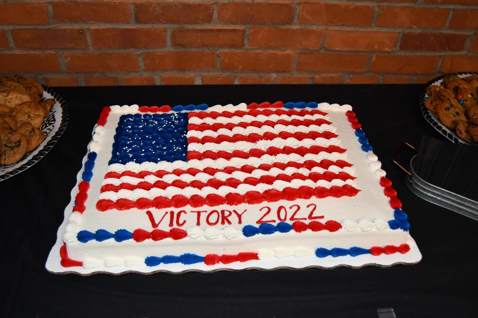
[[[77,180],[81,180],[81,174],[83,172],[84,163],[87,160],[87,155],[83,158],[82,169],[77,174]],[[79,182],[79,181],[78,181]],[[395,253],[395,254],[382,254],[378,256],[373,256],[371,254],[363,254],[359,256],[339,256],[339,257],[324,257],[319,258],[314,256],[309,257],[284,257],[284,258],[271,258],[266,260],[249,260],[247,262],[234,262],[230,264],[216,264],[216,265],[206,265],[204,263],[196,263],[192,265],[184,265],[181,263],[174,264],[161,264],[160,266],[148,267],[146,265],[141,267],[134,267],[134,270],[131,267],[118,266],[118,267],[106,267],[100,266],[95,268],[84,268],[84,267],[63,267],[60,264],[60,247],[63,245],[63,234],[65,233],[65,227],[68,223],[68,218],[73,211],[74,198],[78,193],[78,187],[75,186],[71,191],[71,201],[69,205],[65,208],[65,218],[63,223],[58,229],[57,240],[55,245],[48,255],[46,262],[46,269],[51,273],[55,274],[80,274],[80,275],[91,275],[95,273],[106,273],[119,275],[124,273],[140,273],[140,274],[152,274],[157,272],[167,272],[167,273],[184,273],[190,271],[196,272],[215,272],[219,270],[246,270],[246,269],[260,269],[260,270],[274,270],[274,269],[304,269],[304,268],[325,268],[331,269],[339,266],[351,267],[351,268],[360,268],[363,266],[379,266],[379,267],[388,267],[396,264],[416,264],[418,263],[422,255],[415,243],[415,241],[408,236],[407,243],[410,245],[410,250],[405,254]]]

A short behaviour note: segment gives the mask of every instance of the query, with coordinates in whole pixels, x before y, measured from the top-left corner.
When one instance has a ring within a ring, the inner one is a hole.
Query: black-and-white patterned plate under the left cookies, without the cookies
[[[68,125],[68,109],[65,101],[58,93],[45,85],[43,85],[43,98],[54,98],[56,101],[40,127],[40,130],[46,134],[45,140],[36,149],[26,153],[20,161],[10,165],[1,165],[0,181],[26,170],[45,157],[65,131]]]

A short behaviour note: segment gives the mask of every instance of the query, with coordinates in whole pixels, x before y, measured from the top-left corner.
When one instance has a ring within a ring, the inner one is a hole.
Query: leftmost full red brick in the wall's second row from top
[[[14,29],[11,37],[17,49],[84,49],[86,31],[74,29]]]

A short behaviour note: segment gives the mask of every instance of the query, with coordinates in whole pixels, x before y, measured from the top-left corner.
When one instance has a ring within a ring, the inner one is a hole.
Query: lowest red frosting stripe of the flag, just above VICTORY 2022
[[[317,198],[326,198],[330,196],[335,198],[340,198],[343,196],[352,197],[357,195],[357,193],[360,191],[348,184],[343,186],[332,186],[330,189],[325,187],[305,188],[308,188],[306,190],[308,193],[313,191]],[[299,195],[300,197],[300,194],[297,194],[300,191],[297,190],[298,189],[287,187],[282,191],[266,190],[263,193],[258,191],[248,191],[244,195],[239,193],[228,193],[225,197],[219,194],[208,194],[205,198],[200,195],[193,195],[189,199],[189,205],[192,207],[200,207],[203,205],[218,206],[226,203],[229,205],[238,205],[241,203],[259,204],[265,201],[275,202],[278,200],[295,200],[297,198],[296,195]],[[163,196],[155,197],[153,200],[148,198],[141,198],[136,201],[129,199],[118,199],[116,202],[113,200],[101,199],[96,204],[96,208],[99,211],[107,211],[111,209],[122,211],[132,208],[148,209],[151,207],[155,207],[157,209],[171,208],[173,207],[173,199]]]

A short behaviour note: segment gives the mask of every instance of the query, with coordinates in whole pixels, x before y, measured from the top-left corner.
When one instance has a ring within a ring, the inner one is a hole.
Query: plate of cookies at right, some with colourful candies
[[[425,119],[454,143],[478,145],[478,73],[440,76],[420,96]]]

